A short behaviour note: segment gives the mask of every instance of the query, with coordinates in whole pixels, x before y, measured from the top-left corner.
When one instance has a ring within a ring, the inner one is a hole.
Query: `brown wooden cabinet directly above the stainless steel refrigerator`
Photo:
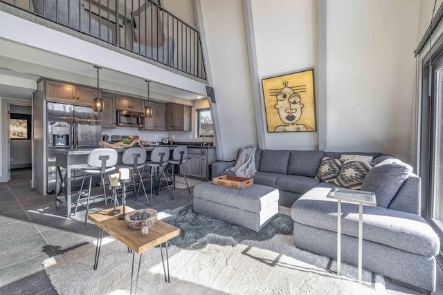
[[[91,106],[96,96],[96,88],[46,80],[46,100],[48,101]]]

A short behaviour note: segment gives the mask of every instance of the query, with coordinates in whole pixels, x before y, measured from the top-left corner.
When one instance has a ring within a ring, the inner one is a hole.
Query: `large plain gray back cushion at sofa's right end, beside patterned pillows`
[[[377,206],[388,208],[412,171],[413,167],[398,159],[383,160],[368,172],[361,184],[361,190],[374,192]]]

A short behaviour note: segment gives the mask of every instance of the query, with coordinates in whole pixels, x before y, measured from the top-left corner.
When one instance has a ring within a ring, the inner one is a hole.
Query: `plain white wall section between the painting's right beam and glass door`
[[[419,2],[327,1],[327,150],[408,157]]]

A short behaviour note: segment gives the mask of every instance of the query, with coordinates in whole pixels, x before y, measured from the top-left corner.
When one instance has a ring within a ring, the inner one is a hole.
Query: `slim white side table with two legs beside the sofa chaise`
[[[327,198],[337,200],[337,274],[340,276],[341,268],[341,201],[359,204],[359,283],[362,273],[362,247],[363,247],[363,205],[376,206],[375,194],[370,191],[358,191],[334,187],[327,194]]]

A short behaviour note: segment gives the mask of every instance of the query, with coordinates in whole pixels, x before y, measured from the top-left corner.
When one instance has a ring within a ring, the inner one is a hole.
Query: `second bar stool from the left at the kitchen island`
[[[140,169],[145,168],[146,162],[146,150],[141,147],[135,147],[125,150],[122,157],[123,165],[120,165],[121,168],[127,168],[132,172],[132,184],[134,184],[134,195],[136,196],[136,200],[138,198],[138,192],[140,191],[140,187],[143,187],[143,191],[145,192],[146,201],[150,204],[150,201],[147,200],[147,193],[145,189],[145,184],[143,184],[142,172]],[[138,174],[138,189],[136,189],[136,179],[135,179],[135,171]]]

